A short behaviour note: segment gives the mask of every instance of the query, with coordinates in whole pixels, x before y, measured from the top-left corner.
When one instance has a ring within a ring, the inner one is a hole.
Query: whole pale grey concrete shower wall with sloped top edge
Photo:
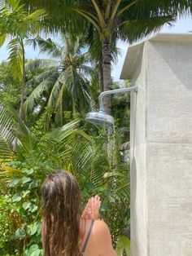
[[[132,66],[132,256],[192,255],[192,35],[178,37],[142,43]]]

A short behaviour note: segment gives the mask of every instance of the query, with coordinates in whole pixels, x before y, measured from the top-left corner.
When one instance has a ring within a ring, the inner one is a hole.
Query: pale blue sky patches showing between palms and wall
[[[164,25],[164,28],[161,29],[162,33],[187,33],[192,31],[192,18],[186,17],[177,20],[177,22],[172,26]],[[129,44],[126,42],[118,42],[118,48],[120,49],[120,55],[116,64],[112,65],[112,77],[114,81],[120,80],[120,72],[124,64],[124,58],[129,47]],[[38,52],[34,52],[31,48],[26,47],[26,58],[45,58],[45,55],[39,55]],[[0,48],[0,60],[7,60],[7,45]]]

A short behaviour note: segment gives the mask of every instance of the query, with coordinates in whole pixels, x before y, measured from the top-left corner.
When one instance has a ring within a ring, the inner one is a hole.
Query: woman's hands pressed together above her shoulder
[[[89,201],[85,205],[85,209],[81,215],[81,218],[97,219],[100,205],[101,201],[99,196],[89,198]]]

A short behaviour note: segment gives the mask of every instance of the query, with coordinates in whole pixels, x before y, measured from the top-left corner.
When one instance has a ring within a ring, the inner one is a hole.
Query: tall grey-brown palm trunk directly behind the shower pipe
[[[111,47],[110,38],[105,38],[102,42],[103,56],[103,89],[111,90]],[[103,99],[104,110],[111,114],[111,96],[107,95]]]

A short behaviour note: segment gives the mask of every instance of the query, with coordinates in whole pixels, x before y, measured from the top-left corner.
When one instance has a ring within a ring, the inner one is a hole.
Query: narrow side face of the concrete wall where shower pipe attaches
[[[145,46],[137,55],[131,93],[130,160],[131,160],[131,255],[147,255],[146,248],[146,143],[145,143]],[[141,196],[142,195],[142,196]],[[134,228],[133,228],[134,227]]]

